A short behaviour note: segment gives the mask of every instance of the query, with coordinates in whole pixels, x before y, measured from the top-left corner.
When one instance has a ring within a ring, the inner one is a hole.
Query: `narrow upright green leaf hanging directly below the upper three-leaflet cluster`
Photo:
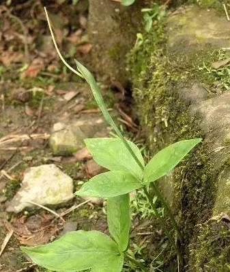
[[[120,251],[128,247],[130,237],[130,195],[119,195],[107,199],[107,221],[109,232]]]

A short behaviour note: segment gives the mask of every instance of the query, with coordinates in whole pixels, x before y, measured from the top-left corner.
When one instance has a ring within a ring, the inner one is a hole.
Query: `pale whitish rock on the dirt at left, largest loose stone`
[[[55,164],[31,167],[26,173],[21,188],[12,201],[5,204],[7,212],[21,212],[24,208],[35,208],[28,201],[43,206],[57,205],[74,197],[72,178]]]

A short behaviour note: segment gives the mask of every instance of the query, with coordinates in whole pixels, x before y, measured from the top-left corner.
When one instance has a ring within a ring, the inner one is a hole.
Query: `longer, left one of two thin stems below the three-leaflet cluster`
[[[147,188],[144,186],[143,187],[144,189],[144,192],[145,192],[145,195],[147,196],[147,199],[149,199],[149,203],[151,204],[152,206],[152,209],[154,210],[155,214],[156,214],[156,217],[158,218],[159,222],[160,222],[160,225],[162,227],[162,229],[164,230],[166,236],[168,237],[169,239],[169,242],[171,243],[171,245],[174,247],[175,251],[177,252],[177,256],[179,258],[179,261],[181,262],[181,264],[183,264],[183,258],[182,258],[182,254],[180,253],[177,245],[174,243],[173,241],[173,237],[171,236],[169,230],[167,229],[163,219],[160,217],[160,214],[155,206],[155,203],[153,201],[153,197],[151,195],[149,195],[149,192],[147,191]]]

